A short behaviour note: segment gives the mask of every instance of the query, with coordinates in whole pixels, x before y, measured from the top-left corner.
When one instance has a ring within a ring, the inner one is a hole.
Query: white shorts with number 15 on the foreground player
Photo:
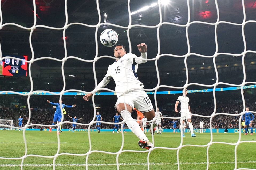
[[[148,95],[142,88],[128,91],[125,95],[119,96],[117,98],[115,108],[119,103],[126,103],[142,113],[149,112],[154,109]]]

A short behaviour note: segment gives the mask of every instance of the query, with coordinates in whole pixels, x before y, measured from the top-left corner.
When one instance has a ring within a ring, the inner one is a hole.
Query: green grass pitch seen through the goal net
[[[26,131],[27,155],[53,156],[57,153],[58,143],[56,132],[49,131]],[[192,138],[189,133],[185,134],[183,145],[206,145],[210,142],[210,133],[196,134]],[[147,136],[152,141],[151,135]],[[91,132],[92,150],[118,152],[121,148],[122,136],[116,132]],[[213,141],[236,143],[239,134],[227,133],[213,134]],[[256,135],[242,135],[242,141],[254,141]],[[138,138],[131,132],[124,134],[123,150],[142,149],[138,146]],[[181,138],[179,133],[155,134],[155,147],[176,148],[180,145]],[[18,158],[25,154],[25,144],[23,140],[23,131],[0,131],[0,157]],[[89,151],[88,132],[63,132],[60,135],[60,152],[85,154]],[[180,169],[200,170],[206,169],[207,165],[207,147],[185,146],[179,151]],[[237,168],[256,169],[256,143],[245,142],[237,147]],[[167,150],[156,148],[149,155],[150,169],[178,169],[177,150]],[[235,145],[212,144],[209,150],[210,165],[209,169],[230,170],[235,167]],[[146,153],[124,152],[119,155],[120,169],[147,169]],[[76,170],[85,169],[86,156],[60,155],[55,164],[56,169]],[[21,169],[20,160],[0,159],[0,169]],[[35,156],[27,157],[23,162],[23,170],[46,170],[53,169],[53,158],[39,158]],[[111,170],[117,169],[116,155],[92,152],[88,159],[88,169]]]

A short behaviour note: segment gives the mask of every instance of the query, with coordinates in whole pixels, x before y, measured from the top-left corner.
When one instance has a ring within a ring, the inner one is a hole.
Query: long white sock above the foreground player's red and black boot
[[[147,136],[141,130],[140,125],[137,123],[135,119],[132,118],[131,113],[127,110],[121,111],[121,116],[126,121],[125,123],[131,129],[131,131],[140,139],[144,141],[149,141]]]

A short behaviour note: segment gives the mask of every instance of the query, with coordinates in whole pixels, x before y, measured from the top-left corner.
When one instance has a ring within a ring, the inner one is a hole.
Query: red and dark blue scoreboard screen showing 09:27
[[[11,56],[11,57],[27,60],[27,56]],[[14,58],[5,58],[2,61],[0,61],[0,69],[1,69],[0,75],[27,76],[27,62],[23,60],[18,60]]]

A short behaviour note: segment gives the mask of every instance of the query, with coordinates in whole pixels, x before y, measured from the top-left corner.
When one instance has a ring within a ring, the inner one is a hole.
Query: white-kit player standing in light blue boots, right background
[[[178,104],[180,104],[180,117],[181,117],[181,125],[180,125],[180,131],[183,131],[183,125],[185,120],[188,121],[188,126],[191,132],[192,137],[196,137],[194,134],[194,129],[193,125],[191,122],[191,111],[190,111],[190,106],[189,106],[189,98],[187,97],[188,90],[183,89],[183,95],[179,96],[176,103],[175,103],[175,112],[178,113],[177,107]],[[183,137],[185,137],[184,134],[181,134]]]

